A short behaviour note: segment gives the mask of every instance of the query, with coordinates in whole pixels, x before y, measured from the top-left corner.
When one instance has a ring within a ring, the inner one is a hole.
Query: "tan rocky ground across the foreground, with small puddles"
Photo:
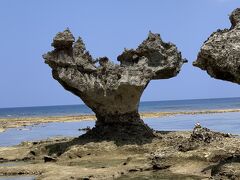
[[[155,137],[51,139],[0,148],[0,175],[36,179],[240,179],[240,139],[197,125]]]

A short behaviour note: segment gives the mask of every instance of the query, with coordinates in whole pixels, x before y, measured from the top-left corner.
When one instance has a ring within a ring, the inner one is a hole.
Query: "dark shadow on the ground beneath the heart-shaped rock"
[[[50,145],[46,145],[45,149],[48,155],[60,156],[72,146],[85,145],[88,143],[101,143],[104,141],[114,142],[117,146],[124,145],[144,145],[151,143],[154,138],[161,138],[157,136],[152,129],[144,126],[142,127],[127,127],[125,129],[119,128],[119,125],[109,127],[94,127],[87,131],[85,134],[74,138],[70,141],[56,142]],[[140,129],[139,129],[140,128]]]

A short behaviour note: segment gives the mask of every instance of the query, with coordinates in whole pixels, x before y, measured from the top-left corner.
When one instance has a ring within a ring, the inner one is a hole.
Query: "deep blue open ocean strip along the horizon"
[[[140,102],[140,112],[176,112],[214,109],[240,109],[240,97]],[[86,105],[0,108],[0,118],[71,116],[92,114]]]

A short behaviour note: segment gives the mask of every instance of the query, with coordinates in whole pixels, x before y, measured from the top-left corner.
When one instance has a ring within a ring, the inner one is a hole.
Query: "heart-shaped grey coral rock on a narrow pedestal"
[[[151,32],[136,50],[118,56],[120,65],[107,57],[94,59],[82,39],[75,41],[68,29],[54,37],[52,46],[54,50],[43,55],[45,62],[54,79],[96,113],[98,133],[135,128],[152,134],[140,120],[140,97],[150,80],[176,76],[185,61],[174,44]]]

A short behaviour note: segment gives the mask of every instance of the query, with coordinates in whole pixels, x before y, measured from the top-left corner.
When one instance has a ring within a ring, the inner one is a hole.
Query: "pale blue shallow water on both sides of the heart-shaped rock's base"
[[[217,113],[199,115],[177,115],[144,120],[151,128],[160,131],[192,130],[200,122],[204,127],[215,131],[240,134],[240,113]],[[35,141],[49,137],[77,137],[84,133],[79,128],[93,127],[94,121],[58,122],[13,128],[0,133],[0,146],[13,146],[23,141]]]

